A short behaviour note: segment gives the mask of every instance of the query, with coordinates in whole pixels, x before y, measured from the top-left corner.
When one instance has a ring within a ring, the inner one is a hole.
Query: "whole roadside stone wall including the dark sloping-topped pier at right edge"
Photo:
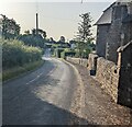
[[[89,54],[89,59],[67,57],[68,61],[96,70],[96,80],[111,99],[132,108],[132,42],[118,49],[118,65]]]

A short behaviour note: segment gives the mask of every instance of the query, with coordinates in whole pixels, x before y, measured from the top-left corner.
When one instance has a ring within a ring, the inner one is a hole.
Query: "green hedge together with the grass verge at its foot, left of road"
[[[43,64],[42,48],[24,45],[16,39],[0,38],[2,81],[30,71]]]

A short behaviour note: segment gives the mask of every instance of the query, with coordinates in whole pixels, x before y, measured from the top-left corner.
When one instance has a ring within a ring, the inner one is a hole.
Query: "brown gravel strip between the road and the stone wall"
[[[128,125],[132,126],[132,112],[130,108],[116,104],[111,97],[101,90],[86,67],[68,62],[76,71],[78,86],[74,93],[72,113],[87,119],[87,123],[75,122],[79,125]]]

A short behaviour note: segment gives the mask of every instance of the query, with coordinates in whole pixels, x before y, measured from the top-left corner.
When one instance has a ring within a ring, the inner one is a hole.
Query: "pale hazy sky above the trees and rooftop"
[[[65,2],[66,0],[62,0],[62,2],[43,1],[45,0],[31,0],[30,2],[1,0],[0,13],[10,19],[13,18],[20,24],[21,33],[23,33],[25,30],[35,27],[35,13],[37,11],[38,27],[46,31],[47,37],[58,41],[64,35],[66,39],[72,39],[77,32],[80,21],[79,14],[90,12],[94,19],[92,23],[95,23],[102,11],[114,0],[108,0],[109,2],[86,2],[88,0],[84,0],[84,3],[80,3],[81,0],[74,0],[77,2]],[[95,26],[94,32],[96,33]]]

